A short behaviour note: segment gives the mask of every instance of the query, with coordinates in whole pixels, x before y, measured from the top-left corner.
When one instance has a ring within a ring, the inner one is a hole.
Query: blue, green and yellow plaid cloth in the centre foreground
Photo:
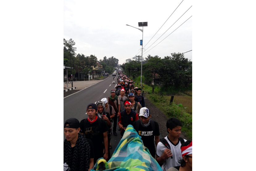
[[[108,165],[105,162],[103,163],[104,159],[102,159],[97,160],[91,171],[96,171],[102,166],[107,171],[162,171],[147,147],[143,145],[141,137],[132,125],[127,126],[122,139],[107,162]]]

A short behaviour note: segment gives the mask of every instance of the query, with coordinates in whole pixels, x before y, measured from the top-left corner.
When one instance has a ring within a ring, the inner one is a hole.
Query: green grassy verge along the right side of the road
[[[145,85],[143,90],[145,94],[144,96],[167,115],[167,117],[175,117],[181,121],[182,133],[188,140],[192,140],[192,97],[187,96],[184,93],[179,93],[178,96],[174,96],[173,103],[169,104],[171,96],[163,96],[163,94],[156,92],[152,93],[152,87],[149,85]],[[178,106],[179,104],[182,105]],[[184,109],[185,107],[187,108]]]

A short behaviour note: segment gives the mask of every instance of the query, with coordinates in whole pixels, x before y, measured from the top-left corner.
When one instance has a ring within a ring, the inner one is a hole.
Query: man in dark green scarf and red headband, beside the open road
[[[116,96],[116,91],[111,90],[111,96],[108,97],[108,104],[114,107],[115,110],[115,116],[113,118],[114,126],[113,126],[113,134],[114,136],[117,136],[116,130],[117,130],[117,118],[120,114],[120,99],[118,96]]]

